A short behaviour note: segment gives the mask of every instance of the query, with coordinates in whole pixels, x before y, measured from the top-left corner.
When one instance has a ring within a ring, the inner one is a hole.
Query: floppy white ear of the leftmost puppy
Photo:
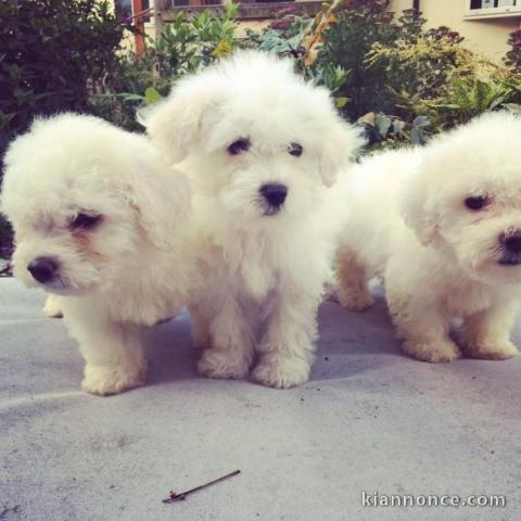
[[[157,247],[167,249],[189,226],[189,181],[182,171],[164,164],[138,163],[126,179],[125,192],[149,239]]]

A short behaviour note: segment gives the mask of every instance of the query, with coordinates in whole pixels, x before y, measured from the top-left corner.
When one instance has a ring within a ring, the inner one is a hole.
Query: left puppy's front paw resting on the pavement
[[[87,393],[107,396],[144,384],[147,367],[93,366],[85,367],[81,389]]]

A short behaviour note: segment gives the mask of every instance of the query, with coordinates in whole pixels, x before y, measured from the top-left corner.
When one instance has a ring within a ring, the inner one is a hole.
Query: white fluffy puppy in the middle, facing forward
[[[143,120],[185,160],[213,277],[192,308],[199,371],[289,387],[309,377],[334,245],[328,187],[360,144],[329,93],[291,63],[241,52],[179,81]]]

